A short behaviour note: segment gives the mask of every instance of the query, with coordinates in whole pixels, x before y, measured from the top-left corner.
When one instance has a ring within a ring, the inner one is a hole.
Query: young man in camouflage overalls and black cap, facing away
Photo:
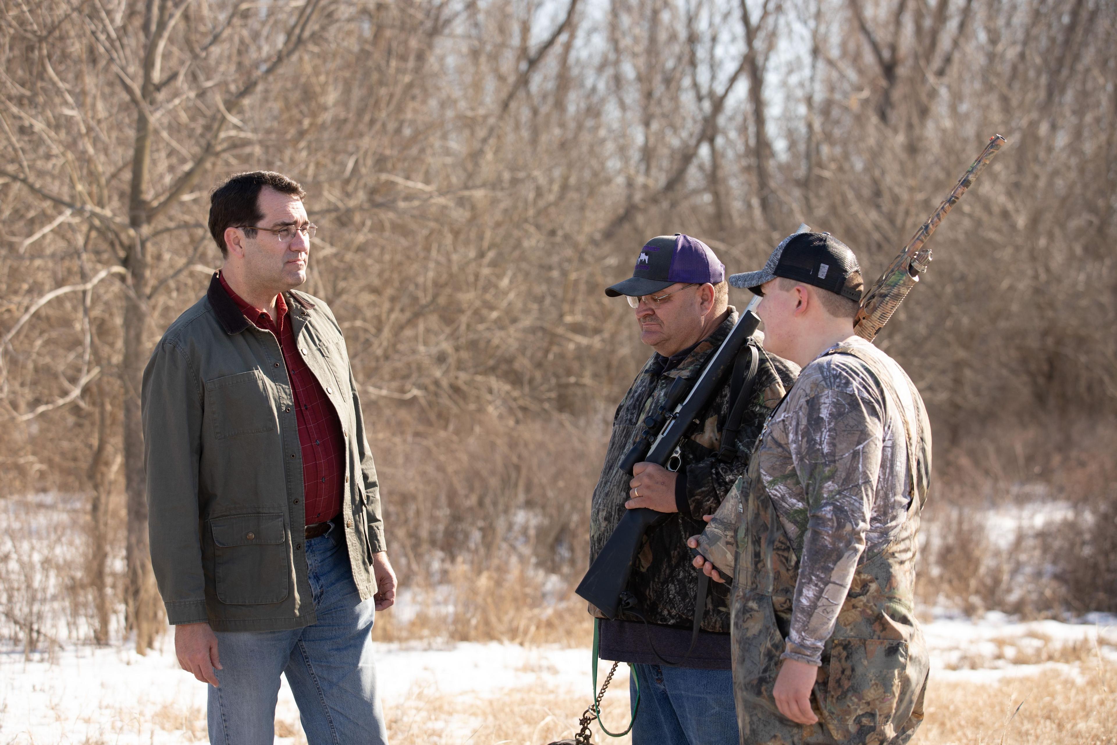
[[[930,476],[923,401],[853,333],[861,273],[829,233],[792,236],[729,281],[764,297],[765,345],[803,366],[703,536],[712,554],[724,556],[719,539],[736,548],[723,569],[741,742],[907,743],[928,669],[913,611]],[[734,509],[735,535],[724,529]]]

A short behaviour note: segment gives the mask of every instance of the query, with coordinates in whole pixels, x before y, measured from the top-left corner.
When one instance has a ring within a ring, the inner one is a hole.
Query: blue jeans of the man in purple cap
[[[731,670],[632,667],[640,679],[632,745],[737,745]],[[631,678],[629,697],[636,704]]]

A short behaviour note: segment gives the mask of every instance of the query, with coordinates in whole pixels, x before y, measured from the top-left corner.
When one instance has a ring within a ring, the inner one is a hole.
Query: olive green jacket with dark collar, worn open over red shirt
[[[384,551],[380,487],[345,340],[322,300],[289,292],[288,321],[337,410],[345,440],[342,517],[362,600]],[[303,553],[303,456],[275,335],[221,287],[171,324],[143,374],[147,529],[172,624],[273,631],[315,622]]]

